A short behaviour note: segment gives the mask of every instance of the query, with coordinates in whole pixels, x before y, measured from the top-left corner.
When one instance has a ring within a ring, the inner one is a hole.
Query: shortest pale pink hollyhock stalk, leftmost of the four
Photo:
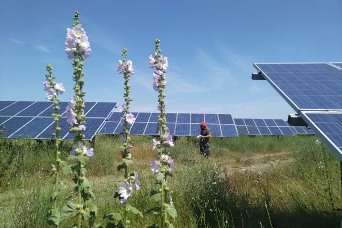
[[[56,165],[51,165],[51,175],[55,175],[55,181],[54,181],[54,193],[50,197],[50,202],[53,204],[51,209],[48,212],[48,224],[50,226],[58,227],[59,220],[57,221],[57,217],[59,218],[60,212],[57,208],[57,197],[59,195],[59,185],[62,184],[62,181],[59,180],[59,172],[63,165],[65,165],[65,162],[61,161],[59,158],[60,152],[59,152],[59,144],[61,142],[61,139],[58,138],[58,133],[61,131],[61,128],[58,126],[58,121],[61,118],[61,115],[58,114],[58,94],[63,94],[65,92],[65,89],[63,87],[63,84],[56,83],[53,80],[56,78],[56,76],[52,76],[52,66],[49,64],[46,67],[46,70],[49,72],[49,74],[46,75],[46,80],[43,80],[44,84],[44,91],[48,91],[48,94],[46,98],[50,101],[54,102],[54,110],[55,113],[52,114],[52,116],[55,119],[55,132],[52,134],[52,138],[56,141],[55,143],[55,153],[56,153]]]

